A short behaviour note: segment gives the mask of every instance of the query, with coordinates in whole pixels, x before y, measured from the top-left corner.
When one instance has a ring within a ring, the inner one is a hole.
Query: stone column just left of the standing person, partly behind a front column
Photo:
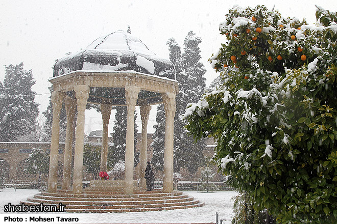
[[[151,106],[149,105],[140,106],[141,148],[140,148],[140,162],[139,162],[139,167],[140,167],[139,186],[143,189],[146,189],[145,169],[146,169],[146,162],[147,162],[148,120],[149,120],[150,110],[151,110]]]

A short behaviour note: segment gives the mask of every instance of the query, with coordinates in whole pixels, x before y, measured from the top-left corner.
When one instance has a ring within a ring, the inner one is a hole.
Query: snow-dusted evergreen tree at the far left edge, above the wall
[[[4,84],[0,85],[0,142],[14,142],[35,131],[38,103],[32,70],[23,70],[23,63],[5,66]]]

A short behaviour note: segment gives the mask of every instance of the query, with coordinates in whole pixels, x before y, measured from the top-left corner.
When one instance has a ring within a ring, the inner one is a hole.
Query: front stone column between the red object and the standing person
[[[126,133],[126,147],[125,147],[125,177],[124,177],[124,193],[133,193],[133,150],[134,150],[134,120],[135,107],[140,92],[139,87],[126,86],[125,97],[128,107],[127,115],[127,133]]]

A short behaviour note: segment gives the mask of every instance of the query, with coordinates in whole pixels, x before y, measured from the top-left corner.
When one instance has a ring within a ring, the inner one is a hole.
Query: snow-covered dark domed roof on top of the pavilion
[[[58,60],[53,77],[71,71],[136,71],[175,79],[170,60],[158,57],[137,37],[124,31],[100,37],[87,48]]]

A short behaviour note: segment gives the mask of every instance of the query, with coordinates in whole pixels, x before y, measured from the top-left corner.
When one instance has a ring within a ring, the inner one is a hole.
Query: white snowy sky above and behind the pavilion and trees
[[[202,62],[207,73],[207,85],[216,77],[207,60],[220,48],[225,37],[219,34],[219,23],[233,5],[255,7],[257,4],[275,8],[282,16],[306,18],[316,21],[315,4],[326,10],[337,11],[335,0],[326,1],[184,1],[184,0],[119,0],[119,1],[26,1],[2,0],[0,4],[0,65],[24,63],[32,69],[38,94],[49,93],[48,81],[53,76],[56,59],[67,52],[87,47],[93,40],[131,26],[132,35],[138,37],[157,55],[168,58],[166,42],[174,37],[183,47],[183,40],[192,30],[202,38]],[[0,68],[0,81],[5,68]],[[49,94],[35,97],[40,112],[46,109]],[[152,109],[152,113],[155,109]],[[152,115],[153,116],[153,115]],[[92,120],[99,114],[87,113]],[[111,116],[113,117],[113,116]],[[140,117],[140,116],[138,116]],[[150,120],[155,118],[151,118]],[[111,120],[112,122],[112,120]],[[86,124],[88,120],[86,121]],[[150,123],[150,126],[153,125]],[[139,125],[140,126],[140,122]],[[93,127],[95,129],[96,127]],[[86,133],[89,131],[86,125]],[[150,127],[150,132],[151,132]]]

